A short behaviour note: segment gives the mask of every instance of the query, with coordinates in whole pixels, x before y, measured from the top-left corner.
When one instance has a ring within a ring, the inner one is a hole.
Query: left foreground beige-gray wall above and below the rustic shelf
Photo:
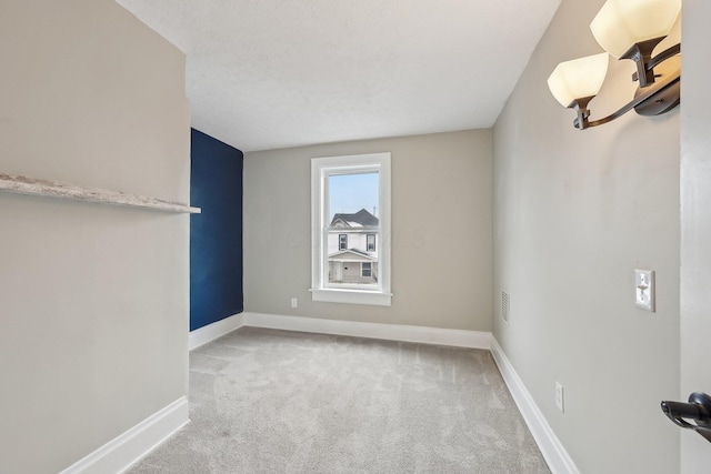
[[[183,54],[110,0],[9,1],[0,171],[189,200]],[[187,394],[189,218],[0,194],[0,472],[57,473]]]

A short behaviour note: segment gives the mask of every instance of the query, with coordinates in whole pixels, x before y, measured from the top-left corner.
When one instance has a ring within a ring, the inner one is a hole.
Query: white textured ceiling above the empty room
[[[242,151],[493,125],[560,0],[117,0]]]

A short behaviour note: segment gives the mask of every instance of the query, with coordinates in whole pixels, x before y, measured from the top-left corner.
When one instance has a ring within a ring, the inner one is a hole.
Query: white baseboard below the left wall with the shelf
[[[190,422],[182,396],[60,474],[122,473]]]

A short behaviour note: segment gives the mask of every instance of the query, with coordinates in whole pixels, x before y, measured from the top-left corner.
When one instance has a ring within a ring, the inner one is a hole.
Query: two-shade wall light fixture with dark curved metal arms
[[[679,105],[681,43],[652,57],[654,48],[674,26],[681,0],[608,0],[590,23],[592,34],[607,51],[561,62],[548,78],[548,87],[561,105],[573,109],[580,130],[602,125],[634,109],[640,115],[659,115]],[[637,64],[634,99],[612,114],[589,120],[588,103],[600,92],[609,57]]]

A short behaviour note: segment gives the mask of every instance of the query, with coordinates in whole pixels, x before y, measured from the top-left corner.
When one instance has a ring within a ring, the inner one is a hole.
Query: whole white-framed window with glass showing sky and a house
[[[312,159],[311,208],[313,301],[390,306],[390,153]]]

